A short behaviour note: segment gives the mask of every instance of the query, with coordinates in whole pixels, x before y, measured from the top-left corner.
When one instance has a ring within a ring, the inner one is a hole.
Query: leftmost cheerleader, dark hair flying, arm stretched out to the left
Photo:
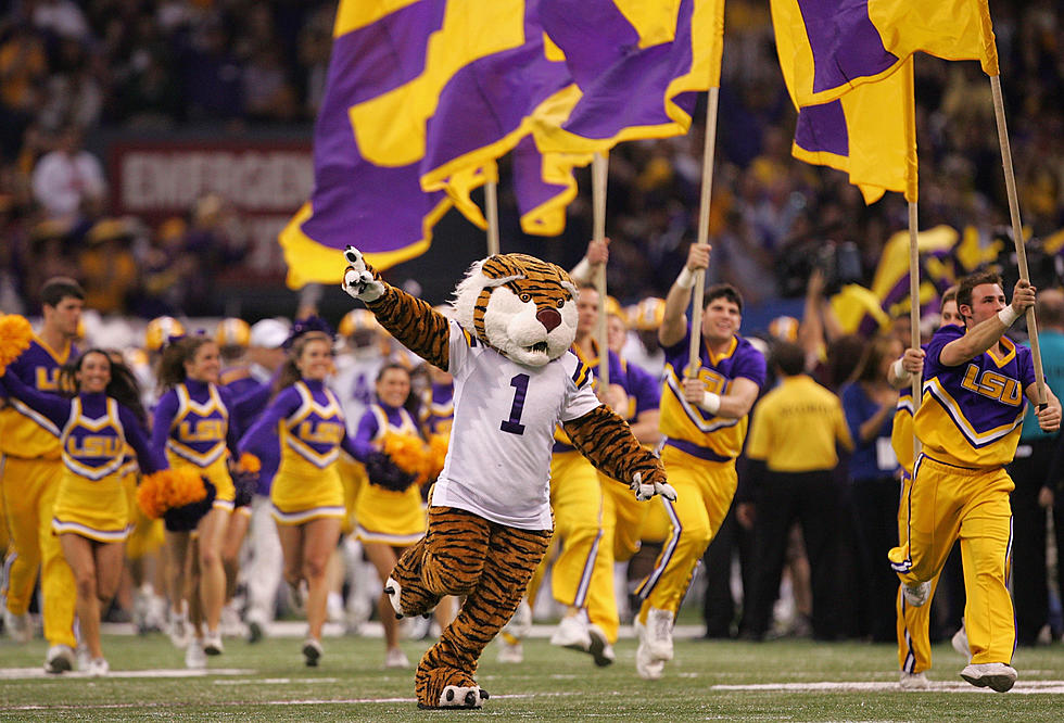
[[[75,578],[81,643],[89,654],[87,672],[106,675],[100,614],[118,587],[123,545],[131,527],[122,480],[127,445],[144,473],[165,467],[149,445],[140,391],[129,369],[98,348],[61,371],[60,388],[76,390],[74,398],[40,393],[5,370],[0,375],[0,395],[22,401],[62,430],[63,473],[52,531]]]

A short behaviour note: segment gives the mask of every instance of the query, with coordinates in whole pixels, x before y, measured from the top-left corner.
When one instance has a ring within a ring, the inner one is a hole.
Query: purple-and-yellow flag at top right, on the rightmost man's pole
[[[800,106],[897,71],[916,51],[977,60],[998,75],[987,0],[771,0],[780,63]]]

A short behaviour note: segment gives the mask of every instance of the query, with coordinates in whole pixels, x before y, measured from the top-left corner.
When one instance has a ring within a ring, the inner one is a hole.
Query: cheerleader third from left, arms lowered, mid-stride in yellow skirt
[[[343,448],[357,453],[347,436],[340,402],[325,380],[332,373],[332,334],[317,318],[296,321],[286,342],[289,356],[277,379],[277,394],[240,441],[254,454],[277,431],[281,461],[270,500],[284,558],[284,582],[294,607],[307,617],[304,662],[318,664],[326,620],[330,554],[344,518],[338,460]],[[304,587],[305,583],[305,587]]]

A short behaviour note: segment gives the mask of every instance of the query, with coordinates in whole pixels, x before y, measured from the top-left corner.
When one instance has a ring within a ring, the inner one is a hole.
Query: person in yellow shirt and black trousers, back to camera
[[[839,446],[853,448],[843,403],[805,373],[801,347],[778,342],[772,365],[780,385],[753,410],[746,454],[755,497],[750,636],[764,637],[780,589],[787,533],[800,521],[812,572],[813,637],[836,636],[833,610],[838,493],[833,470]],[[760,464],[759,464],[760,462]]]

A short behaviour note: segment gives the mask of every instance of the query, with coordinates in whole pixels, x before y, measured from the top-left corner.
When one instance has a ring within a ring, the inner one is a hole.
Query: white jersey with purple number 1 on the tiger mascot
[[[449,346],[455,418],[431,504],[549,530],[554,428],[601,404],[591,370],[568,351],[543,367],[521,366],[455,321]]]

